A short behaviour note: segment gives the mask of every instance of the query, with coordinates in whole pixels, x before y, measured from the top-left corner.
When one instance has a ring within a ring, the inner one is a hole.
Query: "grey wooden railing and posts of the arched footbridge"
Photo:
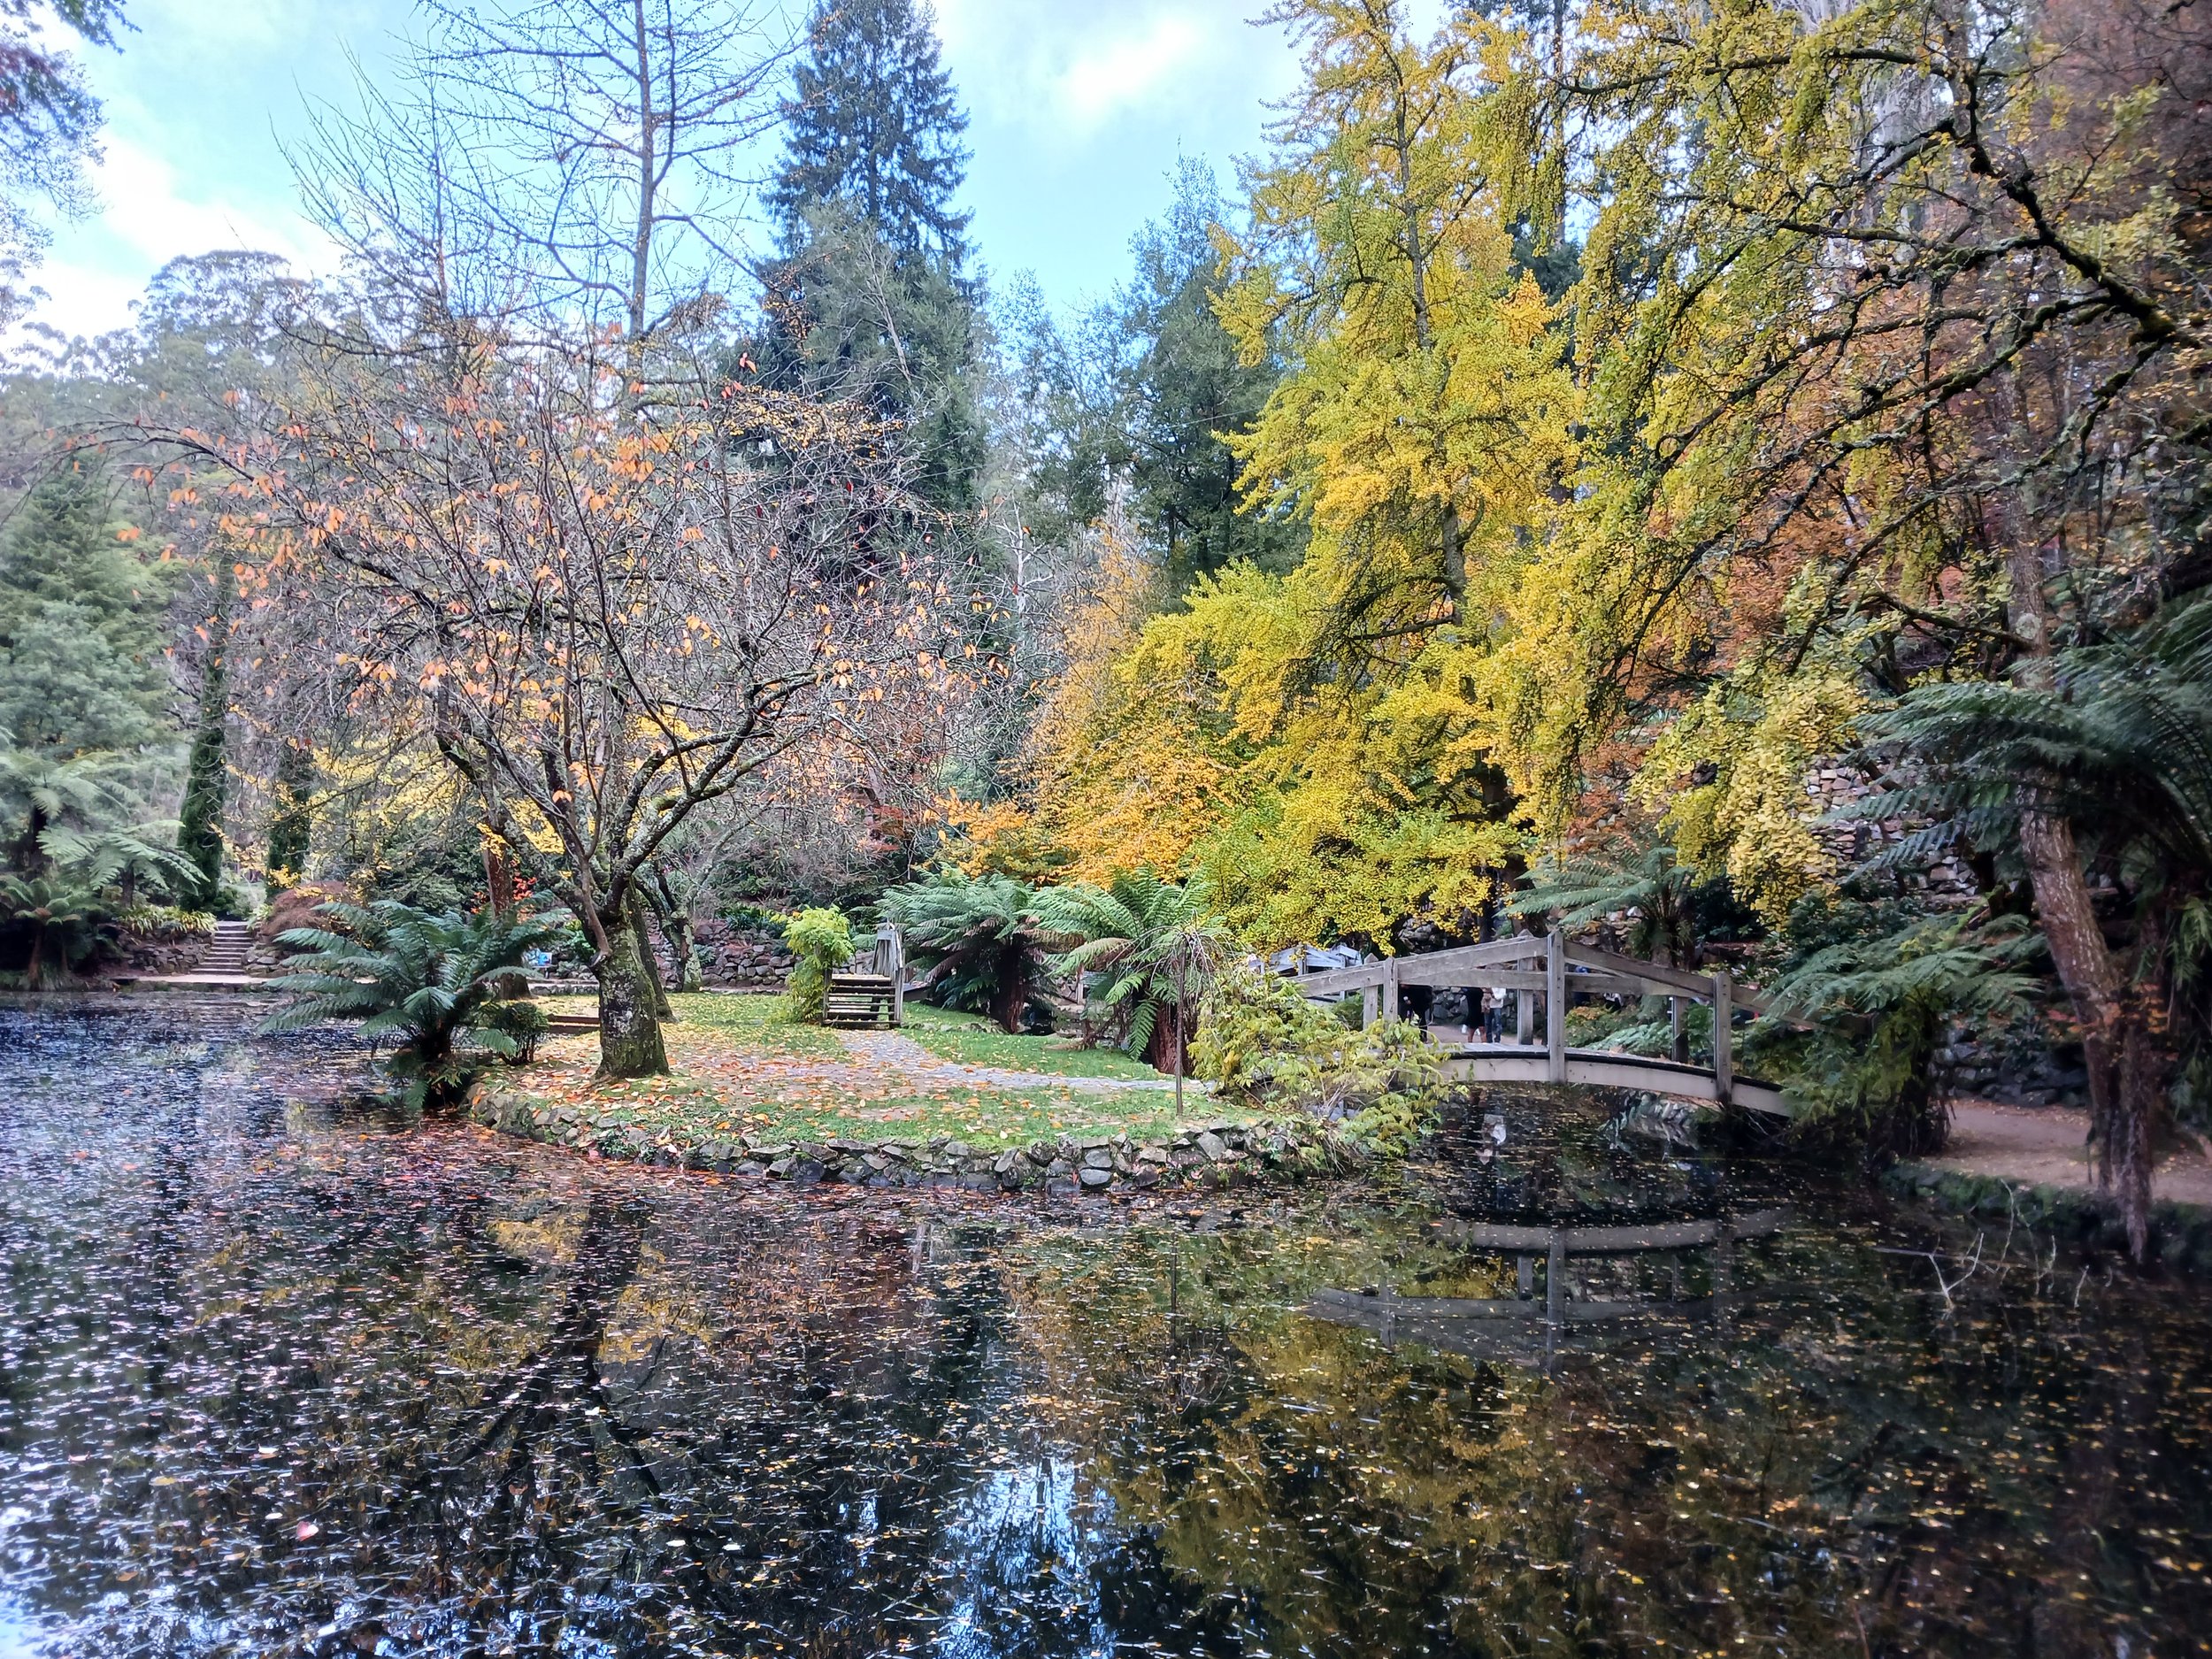
[[[1721,1099],[1734,1084],[1734,1011],[1765,1013],[1765,1002],[1739,987],[1728,971],[1690,973],[1661,962],[1639,962],[1632,956],[1575,945],[1566,936],[1522,933],[1489,945],[1462,945],[1449,951],[1394,956],[1383,962],[1298,973],[1292,982],[1307,998],[1340,998],[1360,993],[1360,1020],[1371,1024],[1385,1009],[1398,1009],[1407,987],[1513,991],[1513,1048],[1544,1048],[1551,1082],[1566,1082],[1566,1011],[1577,995],[1619,995],[1668,1000],[1674,1033],[1681,1033],[1683,1006],[1712,1006],[1712,1075]],[[1542,1011],[1544,1040],[1535,1040]],[[1502,1044],[1504,1046],[1504,1044]]]

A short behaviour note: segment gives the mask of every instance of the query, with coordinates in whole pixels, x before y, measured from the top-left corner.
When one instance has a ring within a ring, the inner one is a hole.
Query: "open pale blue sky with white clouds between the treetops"
[[[796,4],[796,0],[794,0]],[[938,0],[945,64],[969,111],[964,206],[1000,283],[1035,272],[1055,307],[1104,299],[1128,239],[1168,204],[1179,155],[1261,146],[1267,102],[1296,84],[1263,0]],[[288,142],[316,100],[378,77],[411,0],[128,0],[122,51],[80,53],[106,104],[100,210],[55,228],[35,321],[97,334],[168,259],[279,252],[323,272],[334,252],[296,208]]]

